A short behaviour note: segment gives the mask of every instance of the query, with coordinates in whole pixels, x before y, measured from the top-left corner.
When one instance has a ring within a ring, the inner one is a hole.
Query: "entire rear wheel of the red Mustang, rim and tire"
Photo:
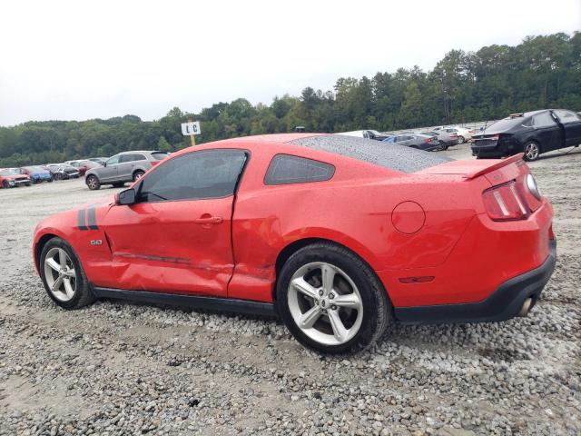
[[[375,273],[332,243],[314,243],[291,255],[279,274],[277,303],[300,343],[333,354],[368,348],[385,332],[391,313]]]

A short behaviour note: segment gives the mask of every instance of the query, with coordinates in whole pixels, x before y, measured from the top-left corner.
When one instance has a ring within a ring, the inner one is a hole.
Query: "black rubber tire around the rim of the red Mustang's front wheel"
[[[44,272],[44,259],[46,258],[46,254],[52,248],[60,248],[63,249],[71,259],[74,265],[74,271],[76,273],[76,284],[74,290],[74,296],[68,302],[62,302],[56,299],[46,282],[46,276]],[[87,280],[87,277],[84,273],[83,265],[81,265],[79,258],[77,257],[76,253],[74,253],[73,247],[66,243],[63,239],[54,237],[53,239],[49,240],[47,243],[44,244],[43,250],[40,254],[39,259],[39,268],[38,271],[40,272],[40,276],[43,279],[44,290],[48,293],[48,296],[53,300],[57,305],[62,307],[63,309],[67,310],[74,310],[80,309],[88,304],[91,304],[95,301],[94,293],[91,290],[91,285]]]

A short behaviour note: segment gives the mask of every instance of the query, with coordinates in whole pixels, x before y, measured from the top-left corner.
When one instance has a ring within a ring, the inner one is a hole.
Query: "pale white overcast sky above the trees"
[[[581,30],[581,0],[26,1],[0,6],[0,125],[270,104],[450,49]]]

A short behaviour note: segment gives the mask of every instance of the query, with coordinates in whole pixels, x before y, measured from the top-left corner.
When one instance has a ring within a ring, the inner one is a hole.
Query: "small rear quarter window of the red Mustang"
[[[330,180],[334,173],[335,167],[330,163],[291,154],[277,154],[266,171],[264,184],[323,182]]]

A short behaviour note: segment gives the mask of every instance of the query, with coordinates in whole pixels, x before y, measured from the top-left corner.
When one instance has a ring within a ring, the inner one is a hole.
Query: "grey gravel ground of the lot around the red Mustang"
[[[63,311],[34,273],[34,225],[117,190],[0,190],[0,434],[580,434],[581,152],[531,167],[559,240],[533,312],[396,325],[340,359],[268,318],[124,302]]]

